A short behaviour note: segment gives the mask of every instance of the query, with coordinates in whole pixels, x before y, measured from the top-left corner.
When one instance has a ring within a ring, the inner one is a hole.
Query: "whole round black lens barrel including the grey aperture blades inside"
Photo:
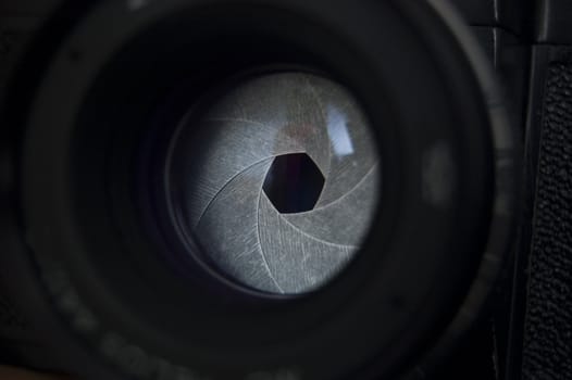
[[[21,197],[0,264],[72,371],[391,378],[477,316],[512,230],[515,139],[448,5],[60,14],[9,88]]]

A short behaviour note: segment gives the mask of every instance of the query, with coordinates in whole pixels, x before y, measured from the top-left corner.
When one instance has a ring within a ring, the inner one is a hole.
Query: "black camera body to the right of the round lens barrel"
[[[457,3],[478,25],[474,29],[510,94],[525,147],[520,231],[511,277],[495,307],[498,376],[565,379],[571,376],[571,318],[564,300],[571,295],[561,286],[571,281],[570,123],[564,110],[572,8],[565,1],[503,1],[483,12],[476,9],[482,2]]]

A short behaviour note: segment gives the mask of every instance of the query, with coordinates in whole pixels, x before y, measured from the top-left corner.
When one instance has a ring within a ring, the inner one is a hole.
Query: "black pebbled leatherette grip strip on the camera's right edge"
[[[523,379],[572,379],[572,63],[545,89]]]

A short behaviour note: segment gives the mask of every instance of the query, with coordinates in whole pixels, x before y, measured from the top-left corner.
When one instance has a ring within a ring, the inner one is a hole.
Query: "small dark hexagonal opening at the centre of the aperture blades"
[[[324,187],[324,176],[306,153],[274,159],[262,189],[283,214],[303,213],[314,207]]]

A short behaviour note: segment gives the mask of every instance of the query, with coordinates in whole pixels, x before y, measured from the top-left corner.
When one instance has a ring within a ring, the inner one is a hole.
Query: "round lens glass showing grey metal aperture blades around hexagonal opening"
[[[358,252],[378,199],[380,157],[357,100],[296,71],[250,75],[207,98],[167,159],[187,253],[263,292],[324,284]]]

